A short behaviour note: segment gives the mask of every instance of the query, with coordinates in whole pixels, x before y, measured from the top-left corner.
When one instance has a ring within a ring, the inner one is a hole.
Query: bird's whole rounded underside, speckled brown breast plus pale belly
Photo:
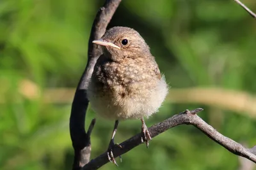
[[[148,68],[133,61],[96,65],[88,89],[93,110],[103,117],[118,119],[156,112],[166,96],[166,83]]]

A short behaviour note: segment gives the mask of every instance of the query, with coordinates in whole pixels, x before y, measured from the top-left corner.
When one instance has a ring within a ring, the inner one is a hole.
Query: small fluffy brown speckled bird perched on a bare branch
[[[93,43],[103,47],[88,86],[88,99],[95,113],[116,120],[108,148],[113,155],[118,120],[141,120],[141,141],[151,139],[143,117],[156,113],[168,93],[155,58],[140,34],[129,27],[112,27]],[[117,164],[116,164],[117,165]]]

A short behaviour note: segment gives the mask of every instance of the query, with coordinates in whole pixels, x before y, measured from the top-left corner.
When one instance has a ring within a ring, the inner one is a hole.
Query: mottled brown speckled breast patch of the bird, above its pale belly
[[[130,62],[106,62],[99,68],[98,81],[104,89],[120,92],[122,96],[134,94],[136,90],[154,87],[156,76],[152,76],[145,64]]]

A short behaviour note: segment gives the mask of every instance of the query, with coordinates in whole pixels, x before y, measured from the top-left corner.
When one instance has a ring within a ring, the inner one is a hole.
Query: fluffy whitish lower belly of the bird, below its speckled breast
[[[156,113],[168,94],[164,76],[156,85],[143,87],[135,84],[136,94],[120,96],[118,92],[104,91],[92,82],[88,88],[88,99],[95,113],[104,118],[122,120],[149,117]],[[143,93],[140,92],[143,90]],[[146,89],[145,89],[146,88]]]

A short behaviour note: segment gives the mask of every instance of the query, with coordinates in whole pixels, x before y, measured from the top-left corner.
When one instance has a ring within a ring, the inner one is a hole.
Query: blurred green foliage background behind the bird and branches
[[[0,169],[71,169],[69,116],[87,62],[93,19],[103,0],[0,1]],[[244,0],[256,11],[256,1]],[[109,27],[140,32],[172,87],[153,125],[198,107],[219,132],[256,145],[256,20],[232,0],[123,1]],[[96,117],[88,111],[86,128]],[[114,121],[97,117],[92,158],[108,148]],[[140,132],[121,122],[115,141]],[[119,167],[101,169],[256,169],[180,125],[140,145]]]

